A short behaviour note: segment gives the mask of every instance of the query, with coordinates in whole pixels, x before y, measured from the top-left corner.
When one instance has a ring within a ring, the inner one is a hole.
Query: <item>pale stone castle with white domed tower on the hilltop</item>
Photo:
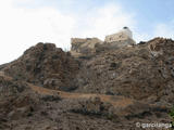
[[[94,53],[100,49],[117,49],[123,47],[130,47],[136,44],[133,40],[133,32],[128,27],[123,27],[116,34],[105,36],[104,41],[98,38],[72,38],[71,39],[71,53],[72,55],[80,55],[87,53]]]

